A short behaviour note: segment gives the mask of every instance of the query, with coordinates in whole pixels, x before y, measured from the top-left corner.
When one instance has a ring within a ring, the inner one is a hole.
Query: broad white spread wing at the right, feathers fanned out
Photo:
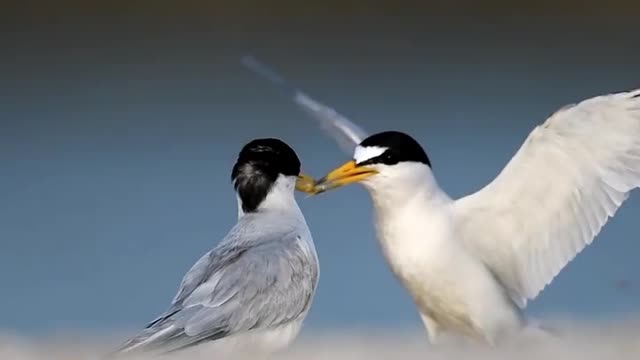
[[[565,107],[502,172],[457,201],[467,245],[521,306],[589,245],[640,185],[640,90]]]

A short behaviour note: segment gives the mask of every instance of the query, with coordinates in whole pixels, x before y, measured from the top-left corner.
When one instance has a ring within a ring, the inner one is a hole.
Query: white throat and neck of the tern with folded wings
[[[268,190],[264,200],[252,213],[269,212],[282,213],[287,215],[302,217],[302,211],[296,202],[294,195],[295,177],[279,176]],[[242,211],[242,200],[238,199],[238,218],[244,216]]]

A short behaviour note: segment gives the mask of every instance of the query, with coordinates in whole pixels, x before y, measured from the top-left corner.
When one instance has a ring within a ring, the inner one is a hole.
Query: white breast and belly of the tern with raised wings
[[[378,240],[423,319],[432,322],[432,340],[437,328],[491,341],[501,329],[518,324],[518,310],[502,287],[465,248],[453,201],[443,192],[429,191],[424,182],[392,186],[378,181],[368,186]]]

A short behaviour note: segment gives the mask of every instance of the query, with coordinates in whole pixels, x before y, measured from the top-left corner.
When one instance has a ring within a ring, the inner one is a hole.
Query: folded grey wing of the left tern
[[[318,268],[295,234],[255,246],[233,242],[203,256],[170,309],[119,351],[168,352],[277,327],[309,308]]]

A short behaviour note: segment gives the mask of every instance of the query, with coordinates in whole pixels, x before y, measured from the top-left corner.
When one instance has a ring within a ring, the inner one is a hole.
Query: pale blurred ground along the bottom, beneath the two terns
[[[238,355],[238,359],[640,359],[640,321],[616,323],[554,324],[560,339],[520,339],[499,348],[486,348],[473,344],[448,343],[430,346],[424,334],[375,329],[352,332],[306,331],[287,351],[270,357],[255,354]],[[87,337],[64,337],[31,340],[17,336],[0,338],[0,359],[102,359],[117,344],[113,339],[100,340]],[[135,359],[151,357],[135,357]],[[210,353],[197,351],[175,353],[162,359],[220,359]]]

